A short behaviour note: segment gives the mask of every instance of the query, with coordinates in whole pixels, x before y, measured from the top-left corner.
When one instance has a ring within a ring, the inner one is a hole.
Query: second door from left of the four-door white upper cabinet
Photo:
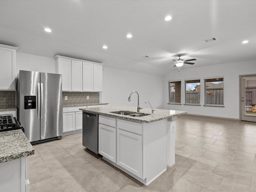
[[[72,60],[71,62],[72,72],[71,72],[71,82],[72,91],[82,91],[83,90],[83,64],[81,61]]]

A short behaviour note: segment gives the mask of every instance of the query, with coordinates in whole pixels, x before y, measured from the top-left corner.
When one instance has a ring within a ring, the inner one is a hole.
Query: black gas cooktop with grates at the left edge
[[[11,131],[21,129],[24,132],[24,128],[20,126],[20,123],[13,117],[12,114],[0,115],[0,132]]]

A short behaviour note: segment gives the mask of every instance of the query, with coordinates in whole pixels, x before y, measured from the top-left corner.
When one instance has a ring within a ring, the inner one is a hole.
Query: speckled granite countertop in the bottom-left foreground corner
[[[0,163],[34,154],[34,148],[21,129],[0,132]]]

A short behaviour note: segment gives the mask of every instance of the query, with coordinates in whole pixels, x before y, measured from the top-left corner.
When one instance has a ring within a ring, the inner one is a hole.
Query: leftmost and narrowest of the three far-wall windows
[[[181,103],[181,81],[169,82],[168,103]]]

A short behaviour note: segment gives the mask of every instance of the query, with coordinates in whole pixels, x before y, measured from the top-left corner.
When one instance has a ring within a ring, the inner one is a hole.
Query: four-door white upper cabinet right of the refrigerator
[[[56,55],[56,72],[62,74],[62,91],[102,91],[102,64]]]

